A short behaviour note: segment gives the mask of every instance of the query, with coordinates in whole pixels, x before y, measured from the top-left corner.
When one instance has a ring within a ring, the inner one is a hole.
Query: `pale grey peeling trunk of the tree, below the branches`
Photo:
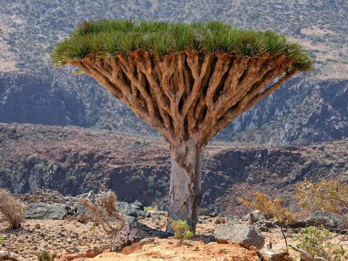
[[[198,209],[202,199],[200,158],[202,147],[194,139],[178,144],[170,144],[171,183],[167,232],[173,232],[171,220],[186,220],[195,233]]]

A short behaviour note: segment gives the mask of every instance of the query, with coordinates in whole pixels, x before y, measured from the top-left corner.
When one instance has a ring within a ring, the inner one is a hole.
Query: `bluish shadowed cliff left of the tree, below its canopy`
[[[76,76],[71,68],[0,72],[0,122],[80,127],[110,122],[120,132],[155,134],[94,79]]]

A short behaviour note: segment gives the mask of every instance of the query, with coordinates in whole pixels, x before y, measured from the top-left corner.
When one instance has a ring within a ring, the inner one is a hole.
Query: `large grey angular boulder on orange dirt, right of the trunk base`
[[[251,246],[261,249],[264,246],[264,237],[254,226],[229,222],[215,231],[217,239],[240,242],[245,248]]]

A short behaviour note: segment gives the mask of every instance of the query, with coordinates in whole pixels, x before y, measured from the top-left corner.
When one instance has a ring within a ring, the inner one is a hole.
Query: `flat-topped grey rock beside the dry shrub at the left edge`
[[[25,219],[63,220],[70,208],[65,204],[30,203],[24,208]]]

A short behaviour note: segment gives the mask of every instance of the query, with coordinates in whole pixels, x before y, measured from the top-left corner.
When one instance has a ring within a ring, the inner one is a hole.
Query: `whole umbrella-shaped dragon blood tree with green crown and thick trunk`
[[[172,163],[168,214],[186,220],[193,232],[205,145],[284,81],[313,66],[298,42],[223,22],[85,21],[51,56],[55,66],[77,66],[99,81],[163,135]]]

